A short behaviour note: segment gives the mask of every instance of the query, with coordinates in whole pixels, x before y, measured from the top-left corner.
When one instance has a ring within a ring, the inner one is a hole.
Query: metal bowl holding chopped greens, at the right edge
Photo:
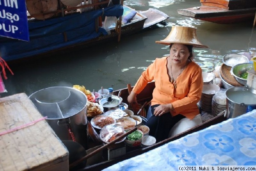
[[[231,68],[230,72],[240,84],[247,84],[247,79],[241,78],[241,74],[247,72],[248,70],[253,69],[253,64],[251,63],[244,63],[244,64],[237,64]]]

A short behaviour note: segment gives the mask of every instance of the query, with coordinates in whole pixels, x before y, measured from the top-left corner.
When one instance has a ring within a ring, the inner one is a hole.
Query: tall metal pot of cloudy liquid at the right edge
[[[226,91],[227,118],[235,118],[256,109],[256,90],[249,87],[231,87]]]

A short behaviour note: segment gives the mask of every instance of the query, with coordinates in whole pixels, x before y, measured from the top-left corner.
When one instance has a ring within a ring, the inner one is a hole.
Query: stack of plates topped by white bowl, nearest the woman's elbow
[[[212,112],[212,97],[220,90],[216,84],[204,84],[199,107],[206,112]]]

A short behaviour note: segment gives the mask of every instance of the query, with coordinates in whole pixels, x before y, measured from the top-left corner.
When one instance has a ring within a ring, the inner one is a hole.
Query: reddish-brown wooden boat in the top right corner
[[[201,6],[178,9],[180,15],[220,24],[251,21],[256,14],[253,0],[200,0]]]

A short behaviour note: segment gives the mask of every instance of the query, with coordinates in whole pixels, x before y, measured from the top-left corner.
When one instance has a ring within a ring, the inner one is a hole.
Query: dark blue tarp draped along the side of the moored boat
[[[95,19],[102,14],[119,17],[123,14],[123,7],[115,5],[91,12],[30,22],[29,42],[0,37],[2,58],[11,61],[107,35],[106,30],[100,27],[96,32]],[[67,34],[67,42],[64,41],[63,32]]]

